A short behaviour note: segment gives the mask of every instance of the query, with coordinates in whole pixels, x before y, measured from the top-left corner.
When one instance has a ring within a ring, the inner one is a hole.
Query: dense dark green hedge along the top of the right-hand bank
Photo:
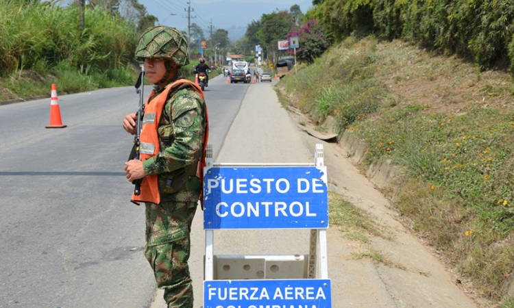
[[[314,0],[306,13],[336,39],[374,33],[514,70],[510,0]]]

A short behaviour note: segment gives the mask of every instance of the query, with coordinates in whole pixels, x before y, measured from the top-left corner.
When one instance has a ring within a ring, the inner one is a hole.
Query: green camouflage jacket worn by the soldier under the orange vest
[[[143,169],[147,175],[158,175],[161,202],[197,201],[201,183],[196,170],[203,151],[205,101],[188,84],[175,87],[169,92],[159,120],[160,152],[145,160]],[[151,99],[163,90],[154,86]]]

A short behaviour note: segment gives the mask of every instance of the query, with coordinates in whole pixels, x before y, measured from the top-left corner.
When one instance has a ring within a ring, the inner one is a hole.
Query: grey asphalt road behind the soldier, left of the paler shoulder
[[[248,87],[225,85],[212,79],[205,91],[215,144]],[[148,307],[144,211],[129,202],[123,172],[132,136],[121,122],[138,95],[127,87],[58,98],[64,129],[45,129],[50,99],[0,106],[0,307]]]

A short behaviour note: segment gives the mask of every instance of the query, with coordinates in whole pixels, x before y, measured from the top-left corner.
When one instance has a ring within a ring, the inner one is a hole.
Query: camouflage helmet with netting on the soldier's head
[[[189,64],[188,46],[185,36],[177,29],[158,25],[149,27],[141,35],[136,47],[136,57],[162,57],[184,66]]]

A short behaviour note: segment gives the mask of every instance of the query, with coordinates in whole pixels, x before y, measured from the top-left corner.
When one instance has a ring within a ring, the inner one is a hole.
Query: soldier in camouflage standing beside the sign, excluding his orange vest
[[[143,33],[136,57],[145,61],[147,77],[155,84],[149,103],[181,78],[178,70],[189,63],[187,51],[186,38],[175,28],[157,26]],[[201,192],[201,181],[196,175],[204,150],[206,105],[203,94],[191,84],[173,87],[162,116],[156,119],[160,151],[144,162],[130,160],[125,164],[125,172],[131,182],[158,175],[160,202],[145,202],[145,257],[154,270],[157,286],[164,288],[168,307],[192,308],[193,287],[187,262],[191,222]],[[135,126],[136,114],[128,114],[123,128],[134,134]],[[141,190],[143,194],[143,185]]]

